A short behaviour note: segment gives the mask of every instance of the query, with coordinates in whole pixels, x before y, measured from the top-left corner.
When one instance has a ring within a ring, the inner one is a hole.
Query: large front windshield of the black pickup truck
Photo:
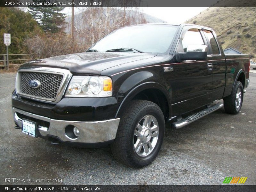
[[[172,43],[178,26],[139,25],[117,29],[93,45],[90,50],[106,52],[132,48],[140,52],[164,53]]]

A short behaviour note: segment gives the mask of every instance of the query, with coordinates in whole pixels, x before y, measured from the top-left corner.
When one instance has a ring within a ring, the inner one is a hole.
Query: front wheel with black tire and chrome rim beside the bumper
[[[162,110],[153,102],[133,100],[120,119],[111,150],[117,161],[141,168],[156,158],[165,132]]]

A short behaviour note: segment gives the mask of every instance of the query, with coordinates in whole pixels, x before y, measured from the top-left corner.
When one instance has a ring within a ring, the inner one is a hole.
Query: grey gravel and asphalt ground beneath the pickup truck
[[[220,185],[227,176],[248,177],[245,184],[256,185],[255,73],[241,113],[228,115],[222,108],[179,130],[167,125],[158,157],[142,169],[117,163],[110,148],[56,146],[15,130],[15,75],[0,73],[0,185]],[[6,183],[6,177],[62,182]]]

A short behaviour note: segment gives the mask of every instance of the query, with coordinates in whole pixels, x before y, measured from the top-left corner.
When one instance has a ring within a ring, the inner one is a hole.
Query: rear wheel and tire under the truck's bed
[[[235,83],[234,89],[232,90],[231,95],[225,97],[224,100],[224,109],[226,113],[237,114],[239,113],[244,99],[244,87],[240,81]]]

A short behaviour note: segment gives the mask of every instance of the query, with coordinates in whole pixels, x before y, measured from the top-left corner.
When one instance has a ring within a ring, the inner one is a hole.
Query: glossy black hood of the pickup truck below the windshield
[[[153,53],[133,52],[84,52],[69,55],[50,57],[42,60],[32,60],[22,68],[52,67],[68,69],[73,74],[95,74],[108,68],[122,65],[137,60],[155,57]]]

